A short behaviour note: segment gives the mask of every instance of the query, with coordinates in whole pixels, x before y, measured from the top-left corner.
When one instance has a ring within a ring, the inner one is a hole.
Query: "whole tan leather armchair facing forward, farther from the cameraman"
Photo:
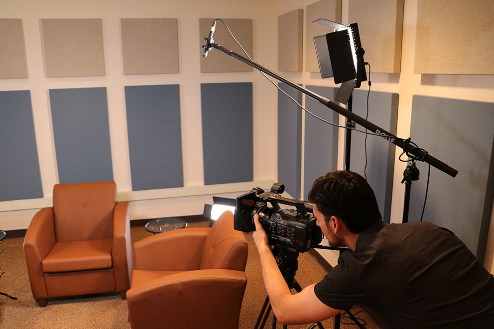
[[[120,292],[132,271],[128,202],[115,182],[57,184],[53,207],[34,215],[24,238],[32,296],[47,298]]]

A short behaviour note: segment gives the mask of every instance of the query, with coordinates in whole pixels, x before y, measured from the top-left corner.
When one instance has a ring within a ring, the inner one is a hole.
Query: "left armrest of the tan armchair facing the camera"
[[[41,261],[55,245],[53,209],[43,208],[37,212],[24,237],[24,254],[34,299],[47,298]]]

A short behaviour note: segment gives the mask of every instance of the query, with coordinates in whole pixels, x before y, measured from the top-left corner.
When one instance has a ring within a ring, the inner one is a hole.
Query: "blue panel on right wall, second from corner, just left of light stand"
[[[336,88],[307,86],[319,96],[334,101]],[[318,101],[305,97],[305,108],[322,119],[338,124],[338,113],[325,107]],[[304,138],[304,196],[314,181],[337,169],[338,160],[338,128],[305,113]]]

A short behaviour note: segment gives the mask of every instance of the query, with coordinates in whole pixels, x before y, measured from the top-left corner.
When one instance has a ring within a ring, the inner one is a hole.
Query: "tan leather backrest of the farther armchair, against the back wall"
[[[57,184],[53,187],[56,241],[113,237],[115,182]]]

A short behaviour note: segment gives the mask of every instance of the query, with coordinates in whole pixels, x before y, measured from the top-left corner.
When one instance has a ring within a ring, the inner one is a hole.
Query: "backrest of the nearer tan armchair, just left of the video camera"
[[[204,243],[200,269],[245,271],[247,240],[244,232],[234,228],[233,221],[233,213],[227,211],[213,224]]]

